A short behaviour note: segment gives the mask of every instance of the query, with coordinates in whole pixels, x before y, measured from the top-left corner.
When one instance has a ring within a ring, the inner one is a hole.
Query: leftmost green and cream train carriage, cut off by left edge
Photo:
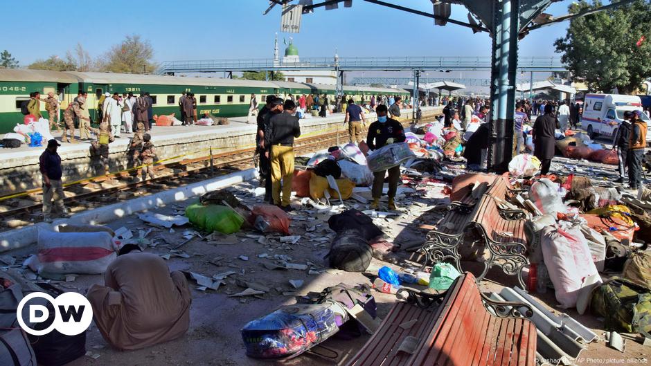
[[[0,68],[0,133],[13,131],[17,124],[23,123],[20,105],[29,100],[29,93],[38,91],[41,98],[46,98],[53,91],[65,109],[77,96],[78,88],[79,80],[69,73]],[[41,103],[41,114],[48,118],[45,103]]]

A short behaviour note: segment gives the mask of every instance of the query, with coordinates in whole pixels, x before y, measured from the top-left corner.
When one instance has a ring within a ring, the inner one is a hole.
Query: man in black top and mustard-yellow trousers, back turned
[[[265,145],[269,147],[267,151],[271,160],[271,197],[275,205],[285,211],[292,211],[289,199],[294,177],[294,138],[301,136],[301,127],[298,125],[298,117],[294,116],[296,104],[292,100],[285,100],[283,110],[283,113],[278,113],[269,120]]]

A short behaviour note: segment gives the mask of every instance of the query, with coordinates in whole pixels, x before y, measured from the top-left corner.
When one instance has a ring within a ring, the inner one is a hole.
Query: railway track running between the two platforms
[[[423,122],[426,122],[423,120]],[[409,125],[410,121],[402,122]],[[308,154],[348,139],[347,131],[337,131],[296,140],[296,155]],[[66,208],[71,214],[110,205],[127,199],[147,196],[173,187],[188,185],[214,176],[228,174],[253,167],[254,148],[240,149],[199,158],[184,159],[157,165],[157,176],[147,181],[133,181],[129,172],[116,172],[95,179],[88,179],[64,188]],[[42,221],[42,193],[30,192],[21,198],[0,201],[0,232],[33,225]]]

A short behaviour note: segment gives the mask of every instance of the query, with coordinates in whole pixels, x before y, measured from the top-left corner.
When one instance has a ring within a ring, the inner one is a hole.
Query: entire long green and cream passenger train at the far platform
[[[335,101],[335,85],[303,84],[298,82],[267,82],[256,80],[221,79],[212,77],[176,77],[164,75],[134,75],[118,73],[57,72],[22,69],[0,69],[0,133],[12,131],[17,123],[23,121],[20,105],[29,99],[29,93],[48,91],[57,93],[61,111],[68,107],[78,91],[87,91],[87,107],[91,118],[97,121],[97,103],[100,96],[109,93],[129,93],[140,95],[149,92],[154,114],[176,113],[180,118],[179,98],[184,91],[194,93],[197,98],[197,115],[204,113],[220,117],[247,116],[251,94],[258,98],[259,108],[265,104],[267,95],[289,98],[289,94],[324,93],[330,102]],[[408,97],[404,89],[368,88],[364,86],[344,86],[344,93],[356,102],[371,98],[371,95],[400,95]],[[41,103],[42,114],[45,103]],[[60,116],[62,119],[62,116]]]

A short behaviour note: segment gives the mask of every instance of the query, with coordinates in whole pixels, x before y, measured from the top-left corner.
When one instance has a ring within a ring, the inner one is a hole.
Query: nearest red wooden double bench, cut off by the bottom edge
[[[517,311],[523,304],[490,300],[472,273],[443,295],[398,294],[406,302],[393,305],[346,366],[535,365],[536,329]]]

